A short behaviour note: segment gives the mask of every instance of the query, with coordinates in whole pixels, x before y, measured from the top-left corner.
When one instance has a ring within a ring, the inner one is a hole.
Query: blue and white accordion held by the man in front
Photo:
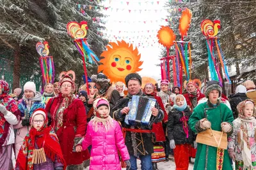
[[[125,124],[128,125],[148,125],[152,115],[152,108],[156,104],[156,99],[142,96],[132,96],[128,106],[129,113],[125,117]]]

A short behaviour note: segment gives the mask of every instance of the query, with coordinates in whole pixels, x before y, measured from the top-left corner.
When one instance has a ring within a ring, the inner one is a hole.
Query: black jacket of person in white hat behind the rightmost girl
[[[238,117],[238,112],[237,112],[237,104],[239,104],[241,101],[245,101],[246,99],[249,99],[245,93],[237,93],[234,94],[234,96],[231,97],[229,103],[231,106],[231,109],[233,111],[233,117],[236,119]]]

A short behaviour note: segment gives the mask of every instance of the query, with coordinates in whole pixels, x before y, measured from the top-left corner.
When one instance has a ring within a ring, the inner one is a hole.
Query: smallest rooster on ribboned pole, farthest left
[[[40,55],[40,66],[43,75],[43,87],[42,92],[44,92],[44,85],[47,83],[54,83],[54,62],[52,56],[49,55],[49,45],[47,41],[44,43],[36,43],[36,51]]]

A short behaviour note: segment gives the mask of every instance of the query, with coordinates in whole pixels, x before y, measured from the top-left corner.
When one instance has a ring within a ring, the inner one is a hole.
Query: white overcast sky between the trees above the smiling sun
[[[127,2],[129,2],[128,5]],[[154,3],[152,4],[152,2]],[[143,43],[138,47],[141,60],[143,60],[141,66],[143,69],[139,74],[150,76],[155,80],[161,79],[161,70],[156,64],[160,64],[159,55],[163,48],[159,45],[156,35],[161,25],[167,25],[165,21],[167,11],[163,7],[166,1],[158,0],[158,2],[159,4],[156,0],[118,0],[111,1],[110,4],[106,1],[104,4],[104,6],[109,6],[108,10],[104,11],[106,15],[109,15],[105,25],[108,29],[106,32],[108,39],[115,41],[114,36],[120,36],[120,39],[131,41],[136,46]],[[141,36],[143,37],[141,38]]]

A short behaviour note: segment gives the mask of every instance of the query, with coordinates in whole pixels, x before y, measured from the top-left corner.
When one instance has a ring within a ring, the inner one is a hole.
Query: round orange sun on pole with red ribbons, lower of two
[[[161,29],[157,32],[157,38],[159,43],[166,47],[167,56],[161,58],[161,78],[162,80],[166,79],[170,81],[170,59],[172,59],[173,64],[173,81],[174,85],[177,85],[177,73],[175,66],[175,56],[169,56],[169,50],[171,46],[174,45],[175,34],[168,26],[161,26]]]

